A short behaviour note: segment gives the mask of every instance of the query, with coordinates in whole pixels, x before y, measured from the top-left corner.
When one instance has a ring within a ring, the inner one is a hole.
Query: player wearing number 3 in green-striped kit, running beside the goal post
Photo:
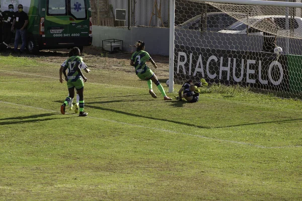
[[[130,65],[135,67],[136,75],[142,79],[146,80],[149,88],[149,93],[152,97],[157,98],[157,95],[153,92],[152,89],[152,81],[157,85],[158,89],[162,92],[164,96],[164,100],[172,100],[172,98],[168,97],[165,93],[165,89],[158,80],[157,76],[154,72],[147,66],[146,61],[150,61],[155,68],[157,68],[156,63],[150,57],[150,55],[144,51],[145,45],[142,41],[137,41],[134,45],[136,47],[136,51],[131,56]]]

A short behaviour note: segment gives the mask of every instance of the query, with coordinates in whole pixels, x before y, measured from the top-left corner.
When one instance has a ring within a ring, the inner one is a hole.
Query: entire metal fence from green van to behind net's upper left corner
[[[108,27],[169,27],[169,0],[90,0],[93,25]],[[186,8],[184,10],[184,8]],[[175,1],[175,25],[213,7],[187,0]]]

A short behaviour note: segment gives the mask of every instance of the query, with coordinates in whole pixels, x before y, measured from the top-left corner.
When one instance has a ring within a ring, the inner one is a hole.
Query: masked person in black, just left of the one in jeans
[[[8,48],[12,39],[12,24],[15,18],[14,5],[9,5],[9,10],[4,11],[3,15],[3,39],[2,39],[2,49]]]

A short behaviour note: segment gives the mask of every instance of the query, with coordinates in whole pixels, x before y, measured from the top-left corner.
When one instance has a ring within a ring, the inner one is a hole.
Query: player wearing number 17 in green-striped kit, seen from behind
[[[80,57],[80,49],[78,47],[74,47],[71,49],[70,54],[72,55],[66,61],[66,64],[63,68],[63,75],[65,76],[65,80],[67,81],[67,87],[69,91],[69,95],[66,97],[63,105],[61,105],[61,113],[65,114],[66,105],[71,102],[71,99],[74,96],[74,88],[77,89],[79,93],[79,107],[80,114],[79,117],[85,117],[88,113],[84,112],[84,82],[87,81],[87,78],[83,75],[80,64],[83,59]],[[66,75],[66,69],[68,68],[68,74]],[[84,82],[83,82],[84,80]]]

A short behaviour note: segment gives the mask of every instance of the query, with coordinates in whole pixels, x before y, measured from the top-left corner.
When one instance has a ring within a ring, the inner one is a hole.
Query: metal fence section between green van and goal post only
[[[91,0],[90,2],[94,25],[110,27],[168,27],[169,25],[167,0]]]

